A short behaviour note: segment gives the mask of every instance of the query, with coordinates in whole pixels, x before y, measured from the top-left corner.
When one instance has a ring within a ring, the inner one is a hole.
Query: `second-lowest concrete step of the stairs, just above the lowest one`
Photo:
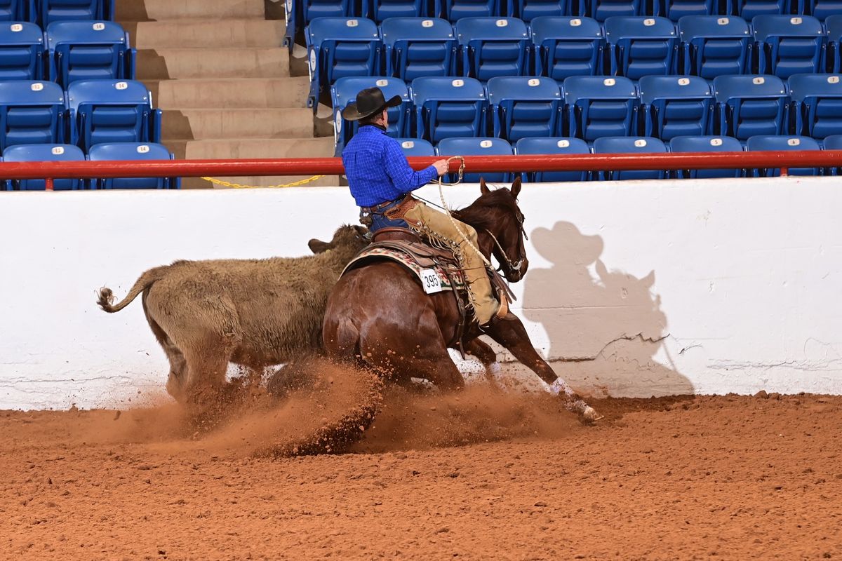
[[[166,109],[163,138],[312,138],[313,114],[299,109]]]

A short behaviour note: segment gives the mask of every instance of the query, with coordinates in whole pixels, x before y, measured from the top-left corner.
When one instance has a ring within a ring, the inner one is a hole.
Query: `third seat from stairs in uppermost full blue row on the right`
[[[462,75],[485,82],[528,73],[530,34],[520,19],[462,18],[456,22]]]

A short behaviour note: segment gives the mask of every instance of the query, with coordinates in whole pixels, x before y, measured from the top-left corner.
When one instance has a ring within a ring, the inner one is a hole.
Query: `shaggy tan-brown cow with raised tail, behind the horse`
[[[330,243],[311,240],[307,257],[173,262],[143,273],[119,304],[100,288],[98,304],[114,313],[143,293],[169,359],[167,391],[184,401],[224,384],[228,363],[260,371],[317,350],[328,295],[366,233],[342,226]]]

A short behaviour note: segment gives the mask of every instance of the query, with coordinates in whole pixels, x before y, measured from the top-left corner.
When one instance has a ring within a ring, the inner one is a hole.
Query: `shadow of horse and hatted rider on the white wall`
[[[523,315],[546,330],[546,358],[559,376],[591,394],[694,393],[674,365],[653,358],[669,335],[660,297],[651,292],[654,271],[644,278],[609,271],[600,260],[602,238],[585,236],[569,222],[538,228],[530,237],[552,267],[530,267]]]

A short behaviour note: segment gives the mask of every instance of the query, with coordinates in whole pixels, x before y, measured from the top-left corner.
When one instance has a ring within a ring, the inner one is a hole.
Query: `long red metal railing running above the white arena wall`
[[[421,169],[437,157],[411,157]],[[456,172],[458,161],[451,162]],[[564,172],[596,170],[679,170],[780,167],[842,167],[842,150],[770,152],[682,152],[669,154],[582,154],[572,156],[465,156],[466,172]],[[159,160],[159,161],[38,161],[0,162],[4,179],[92,177],[206,177],[340,175],[339,158],[281,158],[276,160]]]

